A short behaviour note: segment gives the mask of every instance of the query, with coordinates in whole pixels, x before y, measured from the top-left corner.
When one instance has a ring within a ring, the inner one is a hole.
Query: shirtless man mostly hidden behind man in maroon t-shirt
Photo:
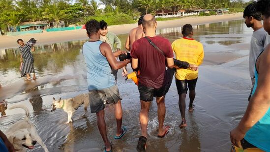
[[[128,33],[128,36],[127,36],[126,41],[125,41],[125,48],[128,51],[130,51],[131,46],[134,43],[134,41],[136,41],[137,39],[140,39],[142,37],[145,37],[145,33],[144,33],[144,30],[143,30],[143,26],[142,26],[143,17],[144,16],[141,16],[139,18],[138,27],[130,30],[129,33]]]

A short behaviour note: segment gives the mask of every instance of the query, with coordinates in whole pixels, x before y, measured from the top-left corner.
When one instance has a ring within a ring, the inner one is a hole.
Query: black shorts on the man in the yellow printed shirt
[[[198,78],[193,79],[193,80],[177,80],[176,79],[176,87],[177,87],[178,94],[186,93],[187,88],[189,90],[195,90],[197,80]]]

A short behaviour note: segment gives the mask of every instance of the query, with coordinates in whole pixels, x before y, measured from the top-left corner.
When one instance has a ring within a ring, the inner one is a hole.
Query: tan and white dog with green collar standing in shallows
[[[72,116],[74,115],[75,111],[82,105],[84,104],[84,109],[85,113],[83,116],[85,116],[87,112],[87,106],[89,105],[89,94],[80,94],[75,96],[74,98],[69,98],[69,99],[59,99],[55,100],[53,98],[53,104],[52,104],[52,110],[55,111],[56,109],[63,109],[64,112],[67,113],[67,122],[73,122],[71,119]]]

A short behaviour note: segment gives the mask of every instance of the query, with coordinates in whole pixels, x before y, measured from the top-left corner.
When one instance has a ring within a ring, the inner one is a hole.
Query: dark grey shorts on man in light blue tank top
[[[91,113],[97,113],[103,110],[106,104],[117,103],[119,100],[121,97],[116,85],[102,90],[89,91]]]

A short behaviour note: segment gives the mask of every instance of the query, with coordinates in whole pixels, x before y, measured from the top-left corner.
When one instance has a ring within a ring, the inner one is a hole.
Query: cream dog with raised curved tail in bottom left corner
[[[9,109],[22,108],[25,110],[25,119],[12,124],[6,131],[9,142],[16,152],[26,152],[33,149],[36,143],[40,144],[45,152],[49,152],[32,123],[29,122],[29,110],[24,105],[15,105]]]

